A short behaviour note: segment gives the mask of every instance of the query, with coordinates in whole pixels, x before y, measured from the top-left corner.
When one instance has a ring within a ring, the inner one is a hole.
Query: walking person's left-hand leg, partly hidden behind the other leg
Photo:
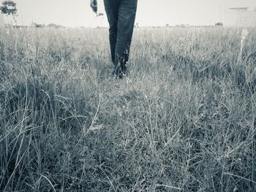
[[[117,0],[104,0],[105,12],[108,17],[109,23],[109,39],[110,50],[113,64],[115,64],[116,55],[116,39],[117,39],[117,20],[118,20],[118,1]]]

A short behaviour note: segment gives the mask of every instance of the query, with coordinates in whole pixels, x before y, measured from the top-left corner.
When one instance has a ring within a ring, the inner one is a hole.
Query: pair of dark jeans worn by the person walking
[[[125,73],[138,0],[104,0],[115,74]]]

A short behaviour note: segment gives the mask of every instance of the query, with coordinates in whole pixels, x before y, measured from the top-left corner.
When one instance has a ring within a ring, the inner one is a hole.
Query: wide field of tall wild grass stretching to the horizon
[[[256,31],[0,29],[0,191],[256,191]]]

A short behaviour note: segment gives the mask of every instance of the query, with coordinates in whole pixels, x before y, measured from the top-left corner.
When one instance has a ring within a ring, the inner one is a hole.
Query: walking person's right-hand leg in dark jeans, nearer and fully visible
[[[118,7],[117,41],[116,41],[116,73],[125,73],[129,59],[129,47],[135,23],[138,0],[120,0]]]

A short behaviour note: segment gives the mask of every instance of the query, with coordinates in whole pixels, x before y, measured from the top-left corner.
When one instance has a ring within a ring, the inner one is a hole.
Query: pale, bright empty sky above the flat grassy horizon
[[[3,1],[3,0],[0,0]],[[108,26],[106,16],[96,17],[90,0],[16,0],[18,25],[56,23],[62,26]],[[103,0],[99,12],[105,14]],[[225,20],[229,7],[256,7],[256,0],[138,0],[139,26],[178,24],[213,25]]]

